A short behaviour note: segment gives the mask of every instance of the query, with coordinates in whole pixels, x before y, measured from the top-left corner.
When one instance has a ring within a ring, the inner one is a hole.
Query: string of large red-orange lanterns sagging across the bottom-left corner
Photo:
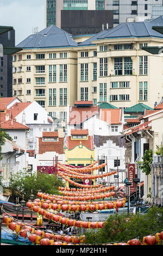
[[[18,234],[24,239],[27,239],[35,245],[80,245],[85,242],[85,236],[68,236],[48,233],[40,229],[35,229],[32,226],[15,221],[14,218],[5,215],[3,222],[7,225],[7,228],[12,232]]]

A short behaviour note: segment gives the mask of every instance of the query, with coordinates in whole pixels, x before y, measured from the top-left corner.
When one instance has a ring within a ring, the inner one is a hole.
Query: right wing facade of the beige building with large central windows
[[[130,107],[139,102],[154,107],[163,94],[163,58],[142,50],[162,39],[116,38],[78,47],[78,100],[110,102]]]

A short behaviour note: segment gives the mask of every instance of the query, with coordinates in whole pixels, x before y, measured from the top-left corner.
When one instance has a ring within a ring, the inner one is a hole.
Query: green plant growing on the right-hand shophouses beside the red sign
[[[153,161],[153,151],[152,149],[145,150],[145,154],[142,157],[143,161],[137,161],[139,168],[142,170],[143,173],[149,175],[151,173],[151,168],[149,164]]]

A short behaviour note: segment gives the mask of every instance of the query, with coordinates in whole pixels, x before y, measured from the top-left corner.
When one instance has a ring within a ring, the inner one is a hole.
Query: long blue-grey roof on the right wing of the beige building
[[[116,26],[115,28],[104,30],[92,36],[84,42],[78,44],[79,46],[91,45],[92,41],[108,38],[140,38],[140,37],[159,37],[163,35],[152,29],[153,26],[163,26],[163,16],[156,18],[151,22],[125,22]]]

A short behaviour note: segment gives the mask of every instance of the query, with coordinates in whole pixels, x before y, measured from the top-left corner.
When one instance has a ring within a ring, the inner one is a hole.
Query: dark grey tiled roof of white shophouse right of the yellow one
[[[107,141],[112,141],[119,147],[125,147],[125,139],[121,138],[121,136],[94,136],[94,143],[96,147],[101,147]]]

